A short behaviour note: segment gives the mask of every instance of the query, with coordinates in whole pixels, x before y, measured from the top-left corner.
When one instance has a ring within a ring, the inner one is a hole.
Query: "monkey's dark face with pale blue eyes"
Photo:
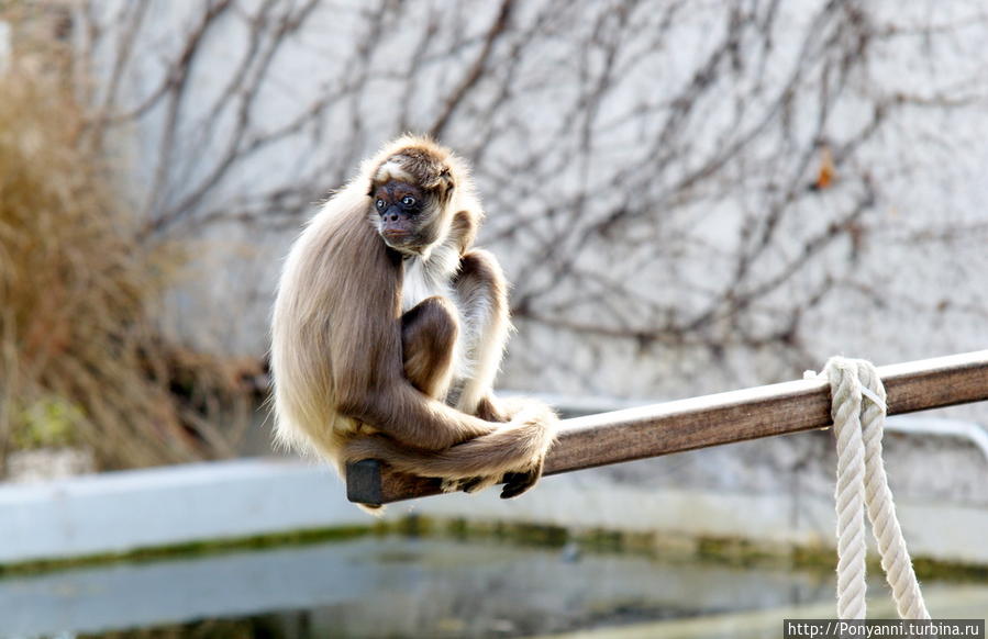
[[[431,197],[409,182],[388,180],[376,186],[370,197],[377,232],[385,244],[404,254],[422,253],[436,240]]]

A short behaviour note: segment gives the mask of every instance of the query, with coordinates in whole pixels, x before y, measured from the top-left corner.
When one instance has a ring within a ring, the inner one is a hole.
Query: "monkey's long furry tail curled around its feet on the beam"
[[[528,402],[498,430],[444,450],[420,450],[384,437],[360,437],[346,445],[346,457],[379,459],[395,470],[444,480],[525,472],[542,464],[556,438],[558,418],[548,407]]]

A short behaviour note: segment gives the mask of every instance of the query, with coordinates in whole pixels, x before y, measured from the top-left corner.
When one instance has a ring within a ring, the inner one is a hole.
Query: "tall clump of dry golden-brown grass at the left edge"
[[[0,464],[36,445],[102,468],[231,453],[249,406],[236,374],[153,322],[177,256],[135,239],[60,82],[14,68],[0,96]]]

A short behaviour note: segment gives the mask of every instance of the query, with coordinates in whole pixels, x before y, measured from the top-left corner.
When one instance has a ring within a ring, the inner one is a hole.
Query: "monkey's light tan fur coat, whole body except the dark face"
[[[379,233],[373,194],[395,181],[426,194],[415,243]],[[466,165],[415,136],[365,160],[322,206],[289,253],[275,302],[279,441],[341,473],[374,458],[447,487],[507,475],[502,496],[537,481],[557,418],[491,394],[510,323],[497,260],[471,249],[482,216]]]

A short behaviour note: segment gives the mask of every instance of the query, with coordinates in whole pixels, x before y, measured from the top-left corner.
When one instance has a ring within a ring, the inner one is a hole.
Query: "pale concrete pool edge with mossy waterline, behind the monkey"
[[[791,516],[785,498],[669,490],[619,494],[613,486],[549,478],[518,501],[502,502],[493,493],[448,495],[392,506],[378,520],[345,502],[340,482],[324,468],[282,459],[208,462],[0,485],[0,574],[27,567],[408,532],[409,516],[420,531],[434,524],[442,534],[484,536],[493,530],[522,541],[528,535],[535,541],[593,546],[597,539],[602,547],[613,541],[625,550],[726,561],[832,564],[831,506],[804,500],[803,520],[787,527],[784,519]],[[622,518],[631,508],[635,516]],[[988,571],[988,556],[979,556],[967,539],[988,529],[984,508],[903,503],[900,509],[918,569],[969,569],[983,576]],[[944,535],[944,517],[955,523],[952,537],[939,536]],[[743,520],[751,524],[745,527]],[[622,523],[620,530],[614,522]]]

